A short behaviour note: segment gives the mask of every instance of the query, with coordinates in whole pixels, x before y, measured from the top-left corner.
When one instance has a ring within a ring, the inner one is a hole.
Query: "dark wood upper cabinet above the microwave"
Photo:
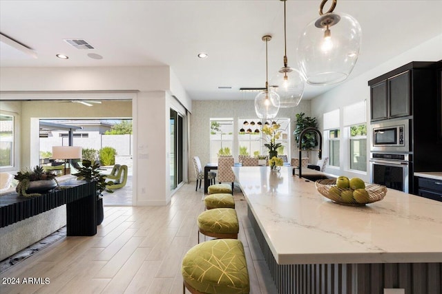
[[[427,96],[421,90],[429,71],[434,71],[434,63],[414,61],[369,81],[370,120],[412,116],[413,98]]]

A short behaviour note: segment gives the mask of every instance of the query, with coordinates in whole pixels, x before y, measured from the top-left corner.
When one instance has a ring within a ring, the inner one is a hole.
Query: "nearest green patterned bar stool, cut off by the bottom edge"
[[[236,239],[215,239],[193,246],[182,260],[183,294],[247,294],[249,271],[244,246]]]

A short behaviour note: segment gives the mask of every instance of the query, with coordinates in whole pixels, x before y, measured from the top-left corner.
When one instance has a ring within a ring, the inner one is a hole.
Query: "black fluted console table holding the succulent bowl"
[[[10,193],[0,197],[0,228],[66,204],[67,235],[97,233],[96,183],[71,180],[60,183],[66,189],[50,190],[41,196]]]

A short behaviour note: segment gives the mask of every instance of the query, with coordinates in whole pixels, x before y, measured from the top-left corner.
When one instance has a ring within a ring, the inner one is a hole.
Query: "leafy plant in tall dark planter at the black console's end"
[[[95,180],[97,182],[97,225],[102,224],[104,219],[103,210],[103,192],[113,193],[112,190],[107,189],[107,185],[113,185],[113,182],[106,182],[106,176],[99,173],[100,165],[98,163],[92,163],[90,160],[84,159],[82,167],[79,167],[77,174],[73,174],[78,177],[78,180],[86,180],[90,182]]]

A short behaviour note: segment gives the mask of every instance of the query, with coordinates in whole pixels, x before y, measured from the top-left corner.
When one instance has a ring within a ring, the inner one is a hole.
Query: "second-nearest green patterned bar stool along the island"
[[[198,216],[198,243],[200,233],[213,238],[238,239],[239,231],[240,225],[235,209],[210,209]]]

